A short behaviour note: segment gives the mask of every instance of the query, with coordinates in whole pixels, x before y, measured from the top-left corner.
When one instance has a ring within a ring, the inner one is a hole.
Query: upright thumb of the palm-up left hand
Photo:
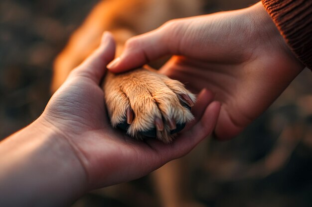
[[[71,75],[83,75],[99,84],[105,73],[106,65],[115,56],[115,48],[112,34],[104,32],[100,46],[81,65],[73,69]]]

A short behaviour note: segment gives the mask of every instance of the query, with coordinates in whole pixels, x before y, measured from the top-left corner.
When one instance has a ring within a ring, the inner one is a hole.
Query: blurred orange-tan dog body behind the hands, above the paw
[[[201,0],[102,0],[72,34],[54,62],[52,91],[100,43],[104,31],[113,33],[117,55],[132,36],[156,29],[174,18],[198,15]]]

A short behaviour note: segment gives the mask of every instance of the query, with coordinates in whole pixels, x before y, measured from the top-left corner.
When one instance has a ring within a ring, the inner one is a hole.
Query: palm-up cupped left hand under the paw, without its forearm
[[[171,144],[128,137],[111,127],[99,86],[114,54],[112,35],[105,33],[100,47],[70,73],[39,118],[67,141],[85,171],[88,190],[142,177],[186,154],[213,131],[220,110],[203,90],[193,107],[195,121]]]

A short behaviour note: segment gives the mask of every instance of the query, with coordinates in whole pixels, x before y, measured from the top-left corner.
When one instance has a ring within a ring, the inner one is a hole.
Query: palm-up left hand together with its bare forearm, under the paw
[[[207,90],[198,95],[194,121],[170,144],[114,130],[99,86],[114,53],[112,35],[105,33],[42,115],[0,142],[0,206],[66,206],[89,190],[142,177],[211,134],[220,103]]]

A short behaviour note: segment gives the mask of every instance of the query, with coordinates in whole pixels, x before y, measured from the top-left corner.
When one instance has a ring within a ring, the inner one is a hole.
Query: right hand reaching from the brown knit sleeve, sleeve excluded
[[[222,103],[214,134],[238,135],[265,111],[304,69],[261,2],[241,10],[171,20],[126,42],[108,65],[121,72],[165,55],[160,73],[208,88]]]

